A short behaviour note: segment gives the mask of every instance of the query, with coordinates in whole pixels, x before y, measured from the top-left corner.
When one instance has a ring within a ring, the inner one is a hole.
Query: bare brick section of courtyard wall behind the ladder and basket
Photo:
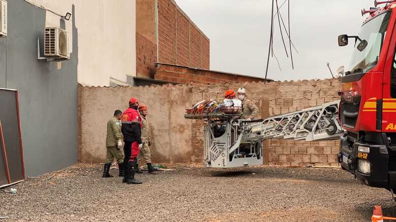
[[[201,85],[193,87],[193,102],[203,99],[222,99],[227,89],[244,87],[247,96],[259,108],[258,116],[266,118],[309,108],[325,102],[338,100],[338,80],[297,81],[297,82],[272,82],[272,83],[232,83],[222,85]],[[264,106],[268,107],[268,112]],[[192,159],[203,161],[203,123],[192,123]],[[196,132],[194,132],[196,131]],[[312,165],[338,165],[336,155],[339,151],[339,140],[327,141],[294,141],[270,139],[264,143],[264,163],[270,166],[304,166]]]

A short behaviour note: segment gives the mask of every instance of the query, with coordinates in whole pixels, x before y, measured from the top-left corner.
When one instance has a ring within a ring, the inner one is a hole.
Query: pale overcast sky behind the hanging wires
[[[278,0],[280,6],[285,0]],[[176,0],[178,6],[210,39],[210,69],[264,78],[271,31],[271,0]],[[269,79],[310,80],[331,78],[344,65],[348,70],[353,45],[338,46],[338,35],[359,33],[368,16],[360,10],[374,7],[374,0],[290,0],[290,32],[297,53],[294,69],[274,20],[274,53]],[[281,15],[287,27],[287,2]],[[282,23],[281,23],[282,24]],[[282,25],[283,26],[283,25]],[[283,31],[287,49],[287,36]],[[288,50],[289,52],[289,50]]]

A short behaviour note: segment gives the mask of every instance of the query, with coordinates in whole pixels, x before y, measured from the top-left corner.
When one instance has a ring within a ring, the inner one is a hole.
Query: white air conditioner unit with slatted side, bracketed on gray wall
[[[69,32],[46,27],[44,33],[44,56],[70,59]]]

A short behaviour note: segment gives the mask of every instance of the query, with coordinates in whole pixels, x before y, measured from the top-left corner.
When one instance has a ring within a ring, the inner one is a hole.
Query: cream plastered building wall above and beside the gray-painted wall
[[[135,0],[29,0],[60,15],[72,13],[78,28],[78,82],[87,86],[109,86],[110,77],[126,82],[136,76]],[[47,12],[47,26],[59,26],[59,16]],[[65,28],[72,30],[66,22]],[[109,44],[111,43],[111,44]]]

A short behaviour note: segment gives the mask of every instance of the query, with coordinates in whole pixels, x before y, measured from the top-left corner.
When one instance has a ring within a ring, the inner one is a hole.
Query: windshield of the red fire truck
[[[389,18],[390,12],[386,12],[362,26],[359,33],[360,40],[357,40],[355,43],[349,67],[352,73],[367,72],[377,64],[385,39]],[[364,40],[366,40],[368,44],[364,50],[359,51],[357,46]]]

